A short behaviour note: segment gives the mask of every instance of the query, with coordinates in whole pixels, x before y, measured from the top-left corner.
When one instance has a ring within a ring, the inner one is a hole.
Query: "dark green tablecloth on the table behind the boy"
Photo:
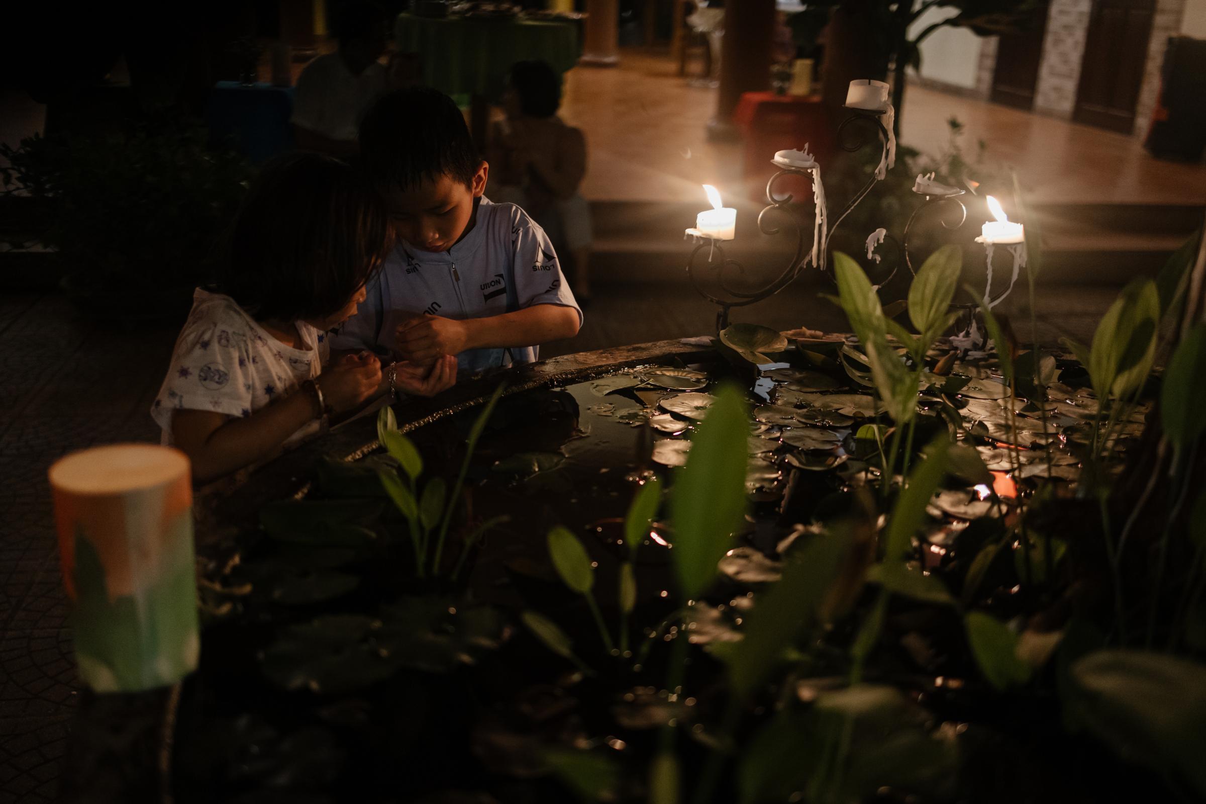
[[[418,53],[423,81],[450,95],[502,95],[511,65],[544,59],[557,72],[578,64],[578,29],[569,22],[527,19],[433,19],[398,14],[394,39],[403,53]]]

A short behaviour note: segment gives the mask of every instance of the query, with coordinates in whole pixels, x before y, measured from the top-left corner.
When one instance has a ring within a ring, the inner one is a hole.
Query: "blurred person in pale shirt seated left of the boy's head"
[[[373,2],[349,0],[333,21],[339,49],[302,70],[293,100],[297,147],[336,157],[356,153],[356,134],[369,104],[391,88],[386,16]]]

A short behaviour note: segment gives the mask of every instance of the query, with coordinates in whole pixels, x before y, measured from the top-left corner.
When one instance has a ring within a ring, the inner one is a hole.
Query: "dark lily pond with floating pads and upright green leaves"
[[[1206,796],[1184,272],[1023,348],[952,307],[960,262],[892,311],[836,254],[855,334],[510,369],[283,499],[253,479],[258,522],[200,550],[174,799]]]

